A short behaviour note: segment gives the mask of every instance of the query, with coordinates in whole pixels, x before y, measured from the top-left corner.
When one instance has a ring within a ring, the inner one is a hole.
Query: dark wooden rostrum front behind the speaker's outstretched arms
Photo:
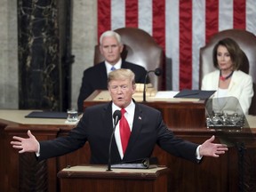
[[[163,111],[163,113],[166,112],[166,110]],[[166,115],[163,114],[163,116]],[[250,121],[255,118],[255,116],[252,117]],[[17,149],[12,148],[10,141],[13,135],[27,137],[28,129],[36,135],[38,140],[52,140],[67,135],[73,127],[57,124],[16,124],[0,119],[0,144],[2,146],[0,150],[0,179],[4,181],[0,185],[0,191],[35,191],[36,187],[31,182],[35,178],[42,181],[42,186],[40,186],[42,190],[47,188],[48,191],[60,191],[57,172],[68,165],[89,164],[89,145],[86,144],[73,153],[51,158],[41,164],[36,162],[31,154],[20,156]],[[170,191],[256,191],[255,128],[255,124],[251,124],[251,130],[228,132],[229,139],[239,145],[229,147],[228,153],[220,158],[204,157],[201,164],[194,164],[172,156],[156,146],[153,156],[157,156],[159,164],[167,165],[171,169]],[[172,128],[172,131],[176,136],[198,144],[209,139],[212,134],[216,135],[216,142],[222,142],[224,136],[227,138],[227,132],[225,134],[212,132],[205,127],[176,127]],[[244,149],[240,144],[244,144]],[[40,167],[43,172],[39,172]],[[26,177],[29,174],[31,180],[28,178],[26,182],[23,182],[24,178],[20,177]],[[46,182],[47,184],[45,184]]]

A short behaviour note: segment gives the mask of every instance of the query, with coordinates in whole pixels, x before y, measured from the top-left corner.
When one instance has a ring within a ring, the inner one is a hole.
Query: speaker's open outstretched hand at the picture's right
[[[215,136],[209,140],[205,140],[204,143],[199,148],[200,156],[213,156],[219,157],[221,154],[225,154],[228,151],[228,147],[225,144],[213,143]]]

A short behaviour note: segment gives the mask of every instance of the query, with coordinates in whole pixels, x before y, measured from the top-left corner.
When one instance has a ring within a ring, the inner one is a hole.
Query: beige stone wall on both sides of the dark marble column
[[[76,100],[83,71],[91,67],[97,44],[97,1],[74,0],[72,23],[71,106]],[[17,1],[0,0],[0,108],[19,108]]]

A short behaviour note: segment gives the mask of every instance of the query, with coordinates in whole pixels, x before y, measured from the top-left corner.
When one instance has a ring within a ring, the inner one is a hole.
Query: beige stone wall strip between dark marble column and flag
[[[72,54],[75,63],[72,66],[71,107],[77,108],[77,99],[85,68],[93,65],[94,46],[97,44],[97,1],[73,1]],[[76,11],[75,11],[76,10]]]

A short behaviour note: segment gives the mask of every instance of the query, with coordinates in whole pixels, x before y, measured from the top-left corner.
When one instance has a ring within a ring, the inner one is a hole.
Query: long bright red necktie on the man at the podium
[[[124,116],[125,112],[126,112],[125,109],[122,108],[121,109],[122,117],[119,122],[120,137],[121,137],[121,142],[122,142],[123,153],[125,153],[125,150],[128,145],[128,140],[131,135],[131,130],[130,130],[129,124]]]

